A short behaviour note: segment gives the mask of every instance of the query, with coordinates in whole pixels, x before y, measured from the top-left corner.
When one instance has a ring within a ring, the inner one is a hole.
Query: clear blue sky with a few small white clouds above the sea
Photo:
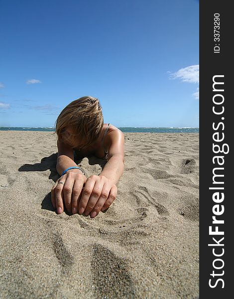
[[[0,127],[85,95],[117,127],[199,127],[198,0],[2,0]]]

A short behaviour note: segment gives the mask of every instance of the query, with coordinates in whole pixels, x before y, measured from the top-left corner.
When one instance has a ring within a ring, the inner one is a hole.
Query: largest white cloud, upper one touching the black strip
[[[171,79],[182,79],[183,82],[199,83],[199,64],[187,66],[171,74]]]

